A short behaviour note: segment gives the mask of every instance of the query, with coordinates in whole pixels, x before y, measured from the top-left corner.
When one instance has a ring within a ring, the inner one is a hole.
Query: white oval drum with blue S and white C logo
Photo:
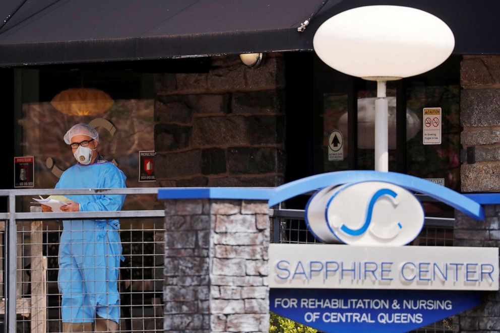
[[[310,198],[306,210],[307,226],[327,243],[405,245],[424,222],[413,194],[377,181],[326,187]]]

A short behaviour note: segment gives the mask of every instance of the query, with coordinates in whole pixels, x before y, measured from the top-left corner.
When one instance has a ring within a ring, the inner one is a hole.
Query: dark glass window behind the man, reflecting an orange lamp
[[[79,122],[99,132],[99,153],[139,182],[139,152],[154,151],[153,75],[126,71],[15,70],[16,156],[34,157],[34,188],[53,188],[76,163],[63,141]],[[148,209],[155,201],[127,198],[124,209]]]

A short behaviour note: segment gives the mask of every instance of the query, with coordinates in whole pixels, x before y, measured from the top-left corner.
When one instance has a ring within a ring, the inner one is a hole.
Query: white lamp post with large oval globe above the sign
[[[365,6],[325,21],[313,45],[337,71],[377,81],[375,170],[389,171],[386,83],[440,65],[455,46],[453,32],[441,19],[418,9]]]

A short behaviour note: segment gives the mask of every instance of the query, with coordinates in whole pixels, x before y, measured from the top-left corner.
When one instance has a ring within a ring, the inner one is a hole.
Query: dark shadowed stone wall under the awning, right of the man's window
[[[212,57],[208,73],[155,76],[155,176],[160,186],[277,186],[285,156],[280,54],[249,69]]]

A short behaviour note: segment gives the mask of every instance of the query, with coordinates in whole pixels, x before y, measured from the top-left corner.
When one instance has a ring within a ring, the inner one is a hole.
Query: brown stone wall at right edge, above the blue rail
[[[461,167],[462,191],[500,190],[500,56],[465,55],[460,69],[463,87],[461,143],[469,162]],[[472,149],[473,150],[472,150]],[[470,160],[473,157],[475,163]]]

